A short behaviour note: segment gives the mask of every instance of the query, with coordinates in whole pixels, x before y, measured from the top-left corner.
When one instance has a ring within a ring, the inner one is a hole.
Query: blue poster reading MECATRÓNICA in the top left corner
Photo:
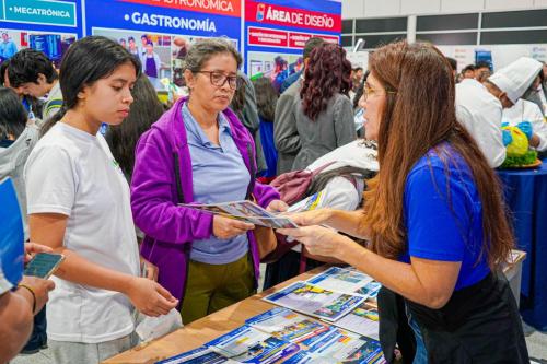
[[[81,1],[0,0],[0,61],[20,49],[45,52],[58,67],[82,36]]]

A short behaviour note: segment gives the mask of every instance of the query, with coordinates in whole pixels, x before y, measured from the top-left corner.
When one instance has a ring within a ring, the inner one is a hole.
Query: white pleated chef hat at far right
[[[532,85],[540,69],[540,62],[529,57],[521,57],[489,77],[488,81],[505,92],[509,99],[516,104]]]

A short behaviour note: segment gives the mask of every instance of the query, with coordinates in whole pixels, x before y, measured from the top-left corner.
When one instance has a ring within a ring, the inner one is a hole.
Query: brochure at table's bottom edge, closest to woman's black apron
[[[284,363],[384,363],[379,341],[338,328],[300,344],[303,351]]]

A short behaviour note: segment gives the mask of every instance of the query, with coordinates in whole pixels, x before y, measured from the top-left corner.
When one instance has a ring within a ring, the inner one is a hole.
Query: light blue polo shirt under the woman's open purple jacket
[[[220,145],[216,145],[206,136],[186,103],[182,113],[191,158],[194,201],[218,203],[244,200],[251,175],[232,139],[230,124],[224,115],[220,113],[218,117]],[[211,234],[208,239],[194,240],[190,259],[225,265],[236,261],[247,250],[246,234],[231,239],[219,239]]]

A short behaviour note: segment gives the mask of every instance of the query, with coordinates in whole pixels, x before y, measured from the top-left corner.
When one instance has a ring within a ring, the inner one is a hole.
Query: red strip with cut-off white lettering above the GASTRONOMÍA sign
[[[151,7],[173,8],[217,15],[241,16],[242,0],[120,0]]]

